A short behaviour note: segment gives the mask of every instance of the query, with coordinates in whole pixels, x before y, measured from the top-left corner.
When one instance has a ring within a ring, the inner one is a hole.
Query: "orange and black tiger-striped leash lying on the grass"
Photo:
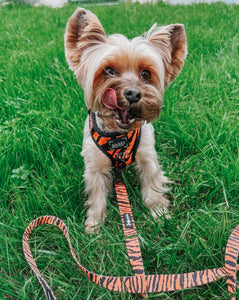
[[[122,188],[121,182],[116,183],[116,190]],[[124,184],[123,184],[124,185]],[[124,187],[125,188],[125,187]],[[126,189],[125,189],[126,190]],[[124,191],[124,190],[123,190]],[[125,191],[124,191],[125,192]],[[120,192],[118,198],[121,199],[124,193]],[[122,207],[124,207],[125,204],[122,203]],[[125,206],[126,212],[130,213],[127,209],[127,205]],[[124,217],[123,217],[124,218]],[[121,217],[122,219],[122,217]],[[133,221],[133,218],[131,220],[131,223],[133,227],[135,226],[135,223]],[[81,269],[81,271],[94,283],[115,292],[128,292],[133,294],[141,294],[144,296],[144,294],[147,293],[159,293],[159,292],[170,292],[170,291],[178,291],[183,289],[189,289],[194,288],[197,286],[201,286],[204,284],[208,284],[211,282],[214,282],[222,277],[227,278],[227,286],[228,286],[228,292],[230,295],[231,300],[236,299],[236,272],[239,270],[239,265],[237,264],[237,258],[238,258],[238,252],[239,252],[239,226],[237,226],[233,232],[231,233],[227,246],[226,246],[226,254],[225,254],[225,266],[221,268],[214,268],[214,269],[208,269],[203,271],[196,271],[196,272],[190,272],[190,273],[182,273],[182,274],[161,274],[161,275],[145,275],[144,269],[143,269],[143,262],[141,253],[136,257],[131,257],[130,262],[133,261],[132,268],[136,275],[134,276],[123,276],[123,277],[111,277],[111,276],[104,276],[104,275],[98,275],[96,273],[88,271],[86,268],[84,268],[79,261],[77,260],[77,257],[75,255],[73,246],[70,241],[69,232],[67,229],[66,224],[59,218],[54,216],[43,216],[35,219],[30,223],[30,225],[26,228],[24,235],[23,235],[23,252],[25,255],[25,258],[35,273],[37,279],[39,280],[40,284],[43,287],[44,293],[46,295],[46,298],[48,300],[56,300],[56,297],[54,296],[53,291],[45,281],[45,279],[41,276],[37,265],[35,263],[35,260],[32,256],[30,247],[29,247],[29,238],[32,230],[40,225],[43,224],[50,224],[58,227],[64,234],[65,238],[67,239],[67,242],[70,247],[71,254],[76,261],[77,265]],[[123,221],[123,227],[126,225]],[[129,226],[130,230],[134,230],[134,228],[131,228]],[[131,232],[132,233],[132,232]],[[127,234],[126,234],[127,235]],[[135,235],[133,235],[135,237]],[[129,244],[131,243],[131,240],[129,238]],[[137,244],[137,242],[136,242]],[[127,245],[127,242],[126,242]],[[134,248],[134,246],[133,246]],[[129,249],[129,250],[128,250]],[[133,252],[130,251],[130,247],[127,248],[129,255]],[[132,249],[134,250],[134,249]],[[139,266],[137,265],[139,264]],[[141,265],[142,264],[142,265]],[[138,274],[137,274],[138,273]]]

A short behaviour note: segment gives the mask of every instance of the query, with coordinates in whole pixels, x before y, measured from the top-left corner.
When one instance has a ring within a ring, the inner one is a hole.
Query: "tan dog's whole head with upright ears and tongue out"
[[[145,37],[106,36],[98,18],[78,8],[65,34],[69,66],[84,90],[88,109],[108,130],[131,130],[160,113],[165,87],[187,54],[184,26],[153,26]]]

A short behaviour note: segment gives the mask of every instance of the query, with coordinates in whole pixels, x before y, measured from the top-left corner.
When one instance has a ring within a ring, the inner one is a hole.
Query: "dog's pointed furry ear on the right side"
[[[187,39],[182,24],[155,25],[147,34],[149,43],[161,55],[165,66],[165,86],[181,71],[187,56]]]

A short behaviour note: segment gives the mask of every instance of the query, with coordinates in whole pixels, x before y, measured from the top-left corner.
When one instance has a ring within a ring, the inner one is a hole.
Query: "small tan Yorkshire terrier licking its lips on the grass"
[[[65,56],[84,91],[86,108],[103,133],[128,133],[141,128],[134,166],[142,199],[154,218],[168,212],[165,197],[170,181],[164,176],[154,148],[152,121],[159,116],[165,88],[181,71],[187,56],[182,24],[153,25],[143,36],[107,36],[95,14],[77,8],[67,23]],[[106,197],[112,188],[112,162],[100,151],[85,122],[83,148],[86,232],[99,230],[106,217]]]

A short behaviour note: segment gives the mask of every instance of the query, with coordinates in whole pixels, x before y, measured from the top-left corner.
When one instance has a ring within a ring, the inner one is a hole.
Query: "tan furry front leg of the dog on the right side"
[[[158,164],[157,153],[154,148],[154,129],[151,124],[142,127],[141,141],[136,153],[136,171],[140,178],[143,200],[154,218],[165,214],[167,218],[169,200],[164,193],[169,189],[165,187],[170,181],[163,175]]]

